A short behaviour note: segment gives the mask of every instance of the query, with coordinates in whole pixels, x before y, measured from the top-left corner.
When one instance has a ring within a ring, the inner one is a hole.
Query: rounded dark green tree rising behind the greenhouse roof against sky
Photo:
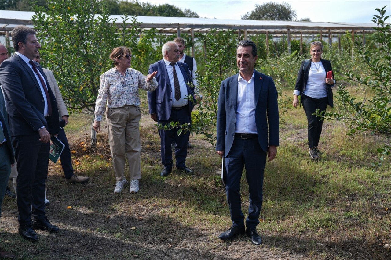
[[[262,5],[255,5],[255,9],[242,16],[246,20],[273,20],[273,21],[293,21],[296,18],[296,11],[286,2],[282,4],[269,2]]]

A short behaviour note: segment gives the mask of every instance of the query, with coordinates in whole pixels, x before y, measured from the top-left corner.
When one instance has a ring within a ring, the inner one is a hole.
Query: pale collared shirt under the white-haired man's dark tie
[[[176,100],[175,99],[174,72],[172,70],[172,66],[170,65],[171,62],[167,61],[166,59],[163,59],[163,60],[166,64],[167,73],[170,78],[171,94],[172,94],[171,95],[172,96],[172,103],[171,104],[173,107],[183,107],[183,106],[187,105],[187,103],[189,102],[186,97],[186,96],[188,96],[188,93],[187,93],[187,86],[186,86],[185,78],[182,75],[182,71],[179,68],[178,62],[175,62],[175,71],[176,71],[176,75],[178,77],[179,87],[181,88],[181,98],[179,98],[179,100]]]

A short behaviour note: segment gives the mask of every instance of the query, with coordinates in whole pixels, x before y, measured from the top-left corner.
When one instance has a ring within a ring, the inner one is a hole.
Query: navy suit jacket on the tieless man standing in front
[[[235,135],[238,97],[238,74],[226,78],[220,87],[217,110],[216,151],[230,153]],[[255,71],[254,78],[255,125],[258,142],[263,151],[268,146],[279,146],[277,89],[273,79]]]

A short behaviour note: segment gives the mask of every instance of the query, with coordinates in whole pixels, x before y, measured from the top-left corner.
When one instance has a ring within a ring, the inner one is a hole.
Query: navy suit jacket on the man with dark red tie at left
[[[34,72],[19,55],[0,65],[0,82],[4,89],[10,132],[12,136],[37,134],[42,126],[50,134],[58,134],[59,116],[57,102],[38,62],[34,62],[48,86],[52,115],[45,119],[45,101]]]

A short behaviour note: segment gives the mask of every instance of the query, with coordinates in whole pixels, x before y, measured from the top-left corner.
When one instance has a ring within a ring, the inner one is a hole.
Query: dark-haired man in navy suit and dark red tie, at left
[[[0,65],[12,143],[18,169],[19,234],[39,238],[33,229],[59,231],[45,215],[45,180],[50,135],[58,134],[56,98],[41,66],[32,61],[41,48],[36,32],[23,25],[11,33],[15,54]]]

